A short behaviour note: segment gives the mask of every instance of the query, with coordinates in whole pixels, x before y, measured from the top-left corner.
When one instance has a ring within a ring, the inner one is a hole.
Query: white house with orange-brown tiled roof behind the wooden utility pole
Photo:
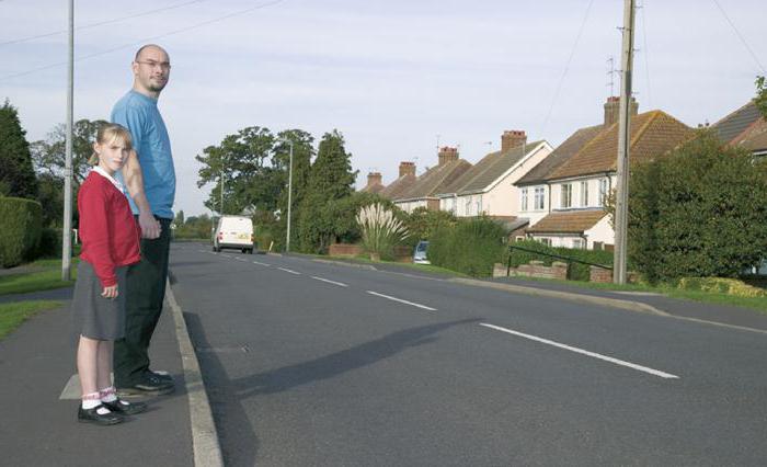
[[[609,98],[602,125],[575,132],[559,153],[542,162],[548,166],[533,169],[517,182],[520,206],[527,208],[520,215],[531,219],[527,237],[553,247],[609,249],[615,243],[605,201],[617,180],[618,107],[619,99]],[[694,136],[692,128],[665,112],[637,111],[632,100],[632,164],[652,160]]]

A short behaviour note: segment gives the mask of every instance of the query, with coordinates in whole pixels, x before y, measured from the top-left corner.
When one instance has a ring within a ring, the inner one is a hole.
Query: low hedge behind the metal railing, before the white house
[[[604,250],[581,250],[563,247],[548,247],[539,241],[525,240],[512,243],[514,247],[520,247],[526,250],[539,251],[547,254],[556,254],[559,257],[570,258],[573,260],[583,261],[592,264],[599,264],[603,266],[613,266],[614,254],[611,251]],[[542,261],[545,265],[550,266],[553,261],[568,262],[566,260],[547,257],[545,254],[536,254],[526,251],[513,250],[507,251],[503,255],[503,264],[506,264],[511,254],[512,267],[516,267],[520,264],[527,264],[530,261]],[[573,281],[588,281],[589,276],[589,265],[581,263],[570,263],[570,273],[568,278]],[[631,265],[629,265],[631,267]]]

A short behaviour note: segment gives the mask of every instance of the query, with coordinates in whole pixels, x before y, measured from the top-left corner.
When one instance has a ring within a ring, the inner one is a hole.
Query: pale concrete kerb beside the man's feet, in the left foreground
[[[205,390],[205,381],[199,369],[197,354],[194,352],[190,339],[184,315],[179,303],[173,296],[171,282],[168,281],[165,299],[173,312],[175,323],[175,337],[181,352],[181,363],[184,368],[184,381],[186,381],[186,396],[190,405],[190,419],[192,426],[192,448],[194,451],[194,465],[196,467],[222,467],[224,456],[218,442],[216,424],[213,420],[213,411]]]

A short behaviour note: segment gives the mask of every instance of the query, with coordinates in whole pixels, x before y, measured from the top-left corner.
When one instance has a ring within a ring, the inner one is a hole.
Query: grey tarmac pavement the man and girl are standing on
[[[145,400],[149,410],[125,423],[78,423],[76,338],[71,288],[0,297],[59,299],[0,341],[0,464],[8,466],[191,466],[193,433],[187,381],[171,310],[163,310],[151,345],[156,369],[171,373],[175,392]]]

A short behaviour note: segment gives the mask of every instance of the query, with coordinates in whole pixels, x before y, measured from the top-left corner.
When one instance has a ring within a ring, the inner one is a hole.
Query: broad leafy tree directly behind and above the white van
[[[268,128],[251,126],[227,135],[219,146],[208,146],[195,159],[203,164],[197,186],[215,183],[205,206],[236,214],[245,208],[272,212],[282,191],[279,168],[271,164],[274,135]],[[221,180],[224,179],[224,180]],[[224,206],[220,201],[224,183]]]

